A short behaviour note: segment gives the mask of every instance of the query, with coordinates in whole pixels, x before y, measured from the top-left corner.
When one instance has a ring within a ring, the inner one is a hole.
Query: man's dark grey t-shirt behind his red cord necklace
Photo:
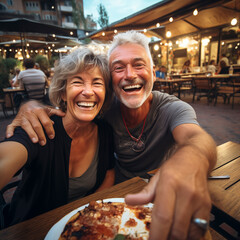
[[[140,152],[132,148],[135,142],[124,126],[119,101],[113,104],[105,116],[114,130],[116,183],[144,176],[146,172],[159,167],[175,144],[173,129],[180,124],[198,124],[196,113],[189,104],[173,95],[158,91],[152,93],[153,101],[141,137],[145,148]],[[143,123],[140,123],[136,128],[129,128],[129,131],[138,138],[142,128]]]

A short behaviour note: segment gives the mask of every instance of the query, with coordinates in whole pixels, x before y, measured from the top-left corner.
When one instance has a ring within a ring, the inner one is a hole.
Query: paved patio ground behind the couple
[[[219,103],[213,106],[213,103],[207,105],[206,100],[192,103],[192,95],[185,94],[182,100],[190,103],[195,109],[198,121],[220,145],[227,141],[240,143],[240,98],[236,98],[234,109],[229,104],[223,104],[219,98]],[[12,112],[9,112],[11,115]],[[4,139],[6,126],[12,121],[14,116],[5,119],[0,110],[0,140]]]

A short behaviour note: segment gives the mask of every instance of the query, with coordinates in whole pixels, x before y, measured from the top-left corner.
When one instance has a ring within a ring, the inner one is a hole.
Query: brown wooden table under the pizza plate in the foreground
[[[226,175],[231,177],[227,180],[209,180],[209,188],[213,204],[239,221],[240,219],[240,144],[227,142],[218,147],[218,162],[212,175]],[[237,180],[238,179],[238,180]],[[44,239],[51,227],[63,216],[72,210],[88,203],[91,200],[104,198],[124,197],[127,193],[139,192],[146,182],[135,177],[109,189],[94,193],[85,198],[76,200],[62,207],[39,215],[25,222],[0,231],[0,239],[7,240],[40,240]],[[227,189],[226,189],[227,187]],[[213,240],[224,239],[214,229],[210,228]]]

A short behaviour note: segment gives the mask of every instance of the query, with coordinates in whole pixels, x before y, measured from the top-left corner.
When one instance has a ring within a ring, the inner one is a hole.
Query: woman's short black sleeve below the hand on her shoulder
[[[31,165],[32,160],[37,156],[40,147],[39,143],[33,143],[27,133],[20,127],[15,129],[12,137],[5,138],[4,141],[14,141],[22,144],[27,149],[28,159],[26,164],[29,165]]]

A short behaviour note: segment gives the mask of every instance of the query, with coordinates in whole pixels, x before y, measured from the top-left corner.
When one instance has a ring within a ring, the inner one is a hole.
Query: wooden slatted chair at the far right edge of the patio
[[[234,98],[240,96],[240,82],[237,82],[236,79],[222,79],[216,82],[216,93],[215,93],[215,103],[217,104],[218,96],[223,97],[224,104],[230,103],[232,98],[232,108],[234,107]]]

